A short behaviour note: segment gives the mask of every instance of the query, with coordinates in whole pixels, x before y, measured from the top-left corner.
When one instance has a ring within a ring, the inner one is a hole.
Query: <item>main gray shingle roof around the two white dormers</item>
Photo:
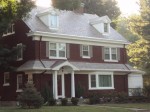
[[[59,30],[52,31],[36,16],[39,11],[46,10],[42,7],[37,7],[30,12],[30,18],[24,20],[27,26],[33,31],[74,35],[87,37],[96,37],[112,40],[121,40],[127,42],[127,40],[116,32],[112,27],[110,28],[109,35],[103,35],[98,32],[92,25],[89,24],[89,20],[98,18],[97,15],[93,14],[79,14],[73,11],[60,11],[59,13]]]

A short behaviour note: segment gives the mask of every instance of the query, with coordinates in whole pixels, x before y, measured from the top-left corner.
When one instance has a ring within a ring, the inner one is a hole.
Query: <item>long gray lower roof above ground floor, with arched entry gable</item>
[[[17,71],[36,71],[36,70],[55,70],[62,66],[74,67],[79,71],[119,71],[119,72],[137,72],[142,71],[134,69],[128,64],[118,63],[90,63],[90,62],[73,62],[73,61],[50,61],[50,60],[30,60],[21,65]]]

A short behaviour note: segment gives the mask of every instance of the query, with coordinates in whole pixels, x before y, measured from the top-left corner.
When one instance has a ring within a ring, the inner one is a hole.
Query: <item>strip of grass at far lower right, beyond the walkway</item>
[[[122,107],[122,108],[138,108],[138,109],[150,110],[150,103],[105,104],[104,106]]]

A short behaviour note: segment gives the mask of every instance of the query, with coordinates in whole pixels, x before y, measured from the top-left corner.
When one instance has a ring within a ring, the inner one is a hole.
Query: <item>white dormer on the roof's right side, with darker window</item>
[[[111,20],[108,16],[98,17],[90,20],[90,24],[103,35],[110,33]]]

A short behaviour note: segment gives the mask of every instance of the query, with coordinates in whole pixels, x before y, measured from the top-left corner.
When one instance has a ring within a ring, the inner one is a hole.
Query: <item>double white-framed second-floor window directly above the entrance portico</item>
[[[66,44],[50,43],[50,58],[66,58]]]

